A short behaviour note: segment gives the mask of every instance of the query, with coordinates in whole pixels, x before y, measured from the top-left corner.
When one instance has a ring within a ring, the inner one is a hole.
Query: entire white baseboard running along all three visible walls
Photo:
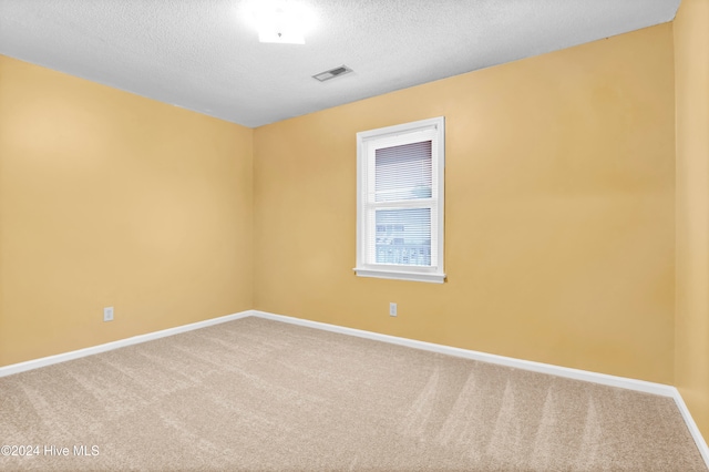
[[[534,362],[531,360],[515,359],[505,356],[491,355],[486,352],[472,351],[467,349],[454,348],[451,346],[435,345],[433,342],[418,341],[415,339],[399,338],[397,336],[381,335],[379,332],[364,331],[361,329],[347,328],[337,325],[328,325],[326,322],[310,321],[307,319],[292,318],[284,315],[275,315],[259,310],[246,310],[234,315],[227,315],[219,318],[212,318],[204,321],[193,322],[189,325],[183,325],[175,328],[163,329],[161,331],[148,332],[145,335],[134,336],[132,338],[121,339],[113,342],[106,342],[105,345],[93,346],[85,349],[79,349],[75,351],[64,352],[56,356],[49,356],[40,359],[29,360],[27,362],[13,363],[6,367],[0,367],[0,377],[10,376],[13,373],[24,372],[32,369],[39,369],[40,367],[51,366],[53,363],[65,362],[72,359],[79,359],[86,356],[92,356],[99,352],[105,352],[113,349],[123,348],[126,346],[137,345],[140,342],[152,341],[155,339],[164,338],[167,336],[178,335],[181,332],[192,331],[199,328],[206,328],[207,326],[218,325],[222,322],[234,321],[236,319],[255,316],[259,318],[270,319],[275,321],[288,322],[291,325],[305,326],[308,328],[322,329],[326,331],[339,332],[342,335],[357,336],[359,338],[367,338],[377,341],[389,342],[392,345],[405,346],[414,349],[422,349],[432,352],[439,352],[448,356],[462,357],[465,359],[479,360],[482,362],[490,362],[500,366],[513,367],[516,369],[531,370],[534,372],[548,373],[552,376],[565,377],[567,379],[583,380],[593,383],[599,383],[603,386],[618,387],[621,389],[635,390],[644,393],[653,393],[662,397],[669,397],[675,400],[677,408],[679,409],[689,432],[691,433],[701,456],[709,468],[709,448],[705,441],[697,423],[691,418],[685,401],[682,400],[679,390],[672,386],[664,383],[647,382],[645,380],[628,379],[625,377],[608,376],[606,373],[590,372],[587,370],[572,369],[568,367],[554,366],[549,363]]]

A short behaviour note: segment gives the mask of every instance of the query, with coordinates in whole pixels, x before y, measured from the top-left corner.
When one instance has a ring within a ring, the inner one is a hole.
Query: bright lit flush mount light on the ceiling
[[[312,19],[301,4],[290,0],[255,0],[249,2],[248,10],[260,42],[305,44],[305,32]]]

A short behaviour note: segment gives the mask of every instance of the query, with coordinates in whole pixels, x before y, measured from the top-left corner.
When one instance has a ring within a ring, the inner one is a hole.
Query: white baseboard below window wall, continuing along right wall
[[[435,345],[433,342],[418,341],[415,339],[399,338],[397,336],[382,335],[379,332],[329,325],[320,321],[294,318],[285,315],[276,315],[267,311],[251,310],[251,314],[256,317],[275,321],[282,321],[291,325],[322,329],[326,331],[339,332],[342,335],[357,336],[359,338],[390,342],[392,345],[405,346],[409,348],[422,349],[431,352],[439,352],[449,356],[462,357],[465,359],[479,360],[482,362],[495,363],[499,366],[513,367],[516,369],[531,370],[533,372],[547,373],[551,376],[564,377],[567,379],[583,380],[586,382],[599,383],[608,387],[617,387],[621,389],[672,398],[682,418],[685,419],[685,423],[687,424],[687,428],[689,429],[689,432],[695,440],[695,443],[697,444],[697,449],[699,449],[699,453],[703,458],[707,468],[709,468],[709,448],[707,447],[707,442],[701,435],[697,423],[691,418],[691,414],[687,409],[687,406],[685,404],[679,390],[677,390],[676,387],[664,383],[648,382],[645,380],[629,379],[626,377],[609,376],[607,373],[592,372],[588,370],[554,366],[551,363],[535,362],[531,360],[522,360],[505,356],[472,351],[469,349],[454,348],[451,346]]]

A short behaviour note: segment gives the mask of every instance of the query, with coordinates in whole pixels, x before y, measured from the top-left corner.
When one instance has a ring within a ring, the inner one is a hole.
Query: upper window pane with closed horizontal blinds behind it
[[[374,152],[374,201],[430,198],[431,141],[382,147]]]

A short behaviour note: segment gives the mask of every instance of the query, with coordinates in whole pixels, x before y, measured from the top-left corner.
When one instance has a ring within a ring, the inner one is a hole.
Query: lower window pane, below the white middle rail
[[[431,265],[431,208],[378,209],[376,264]]]

